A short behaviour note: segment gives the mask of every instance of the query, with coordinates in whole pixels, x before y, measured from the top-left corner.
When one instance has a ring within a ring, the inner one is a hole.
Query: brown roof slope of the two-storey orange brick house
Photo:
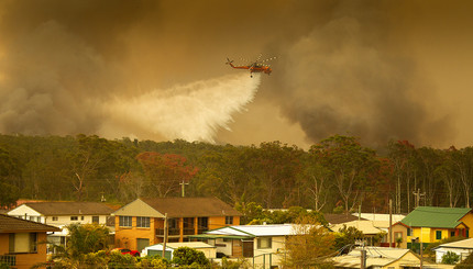
[[[217,198],[143,198],[143,202],[168,217],[240,216],[240,212]]]

